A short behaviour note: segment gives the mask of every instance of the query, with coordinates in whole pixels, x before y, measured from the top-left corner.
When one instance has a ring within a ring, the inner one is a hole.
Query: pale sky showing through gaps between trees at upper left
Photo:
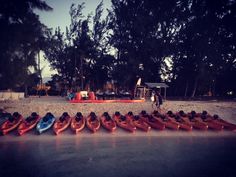
[[[72,3],[77,5],[85,2],[83,14],[87,16],[90,12],[92,12],[93,15],[95,14],[95,9],[101,1],[102,0],[45,0],[53,10],[49,12],[35,10],[35,13],[39,15],[40,21],[47,27],[55,30],[55,28],[59,26],[62,31],[65,31],[66,26],[70,25],[69,10]],[[104,13],[110,6],[110,0],[103,0]],[[41,53],[41,58],[43,58],[43,53]],[[42,59],[41,63],[41,68],[44,68],[42,71],[43,77],[50,77],[51,74],[56,73],[56,71],[50,69],[50,65],[46,60]]]

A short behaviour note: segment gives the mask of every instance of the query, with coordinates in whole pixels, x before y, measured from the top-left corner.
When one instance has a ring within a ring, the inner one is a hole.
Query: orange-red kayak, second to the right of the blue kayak
[[[76,134],[83,130],[85,127],[85,118],[81,112],[77,112],[75,117],[72,118],[70,127]]]

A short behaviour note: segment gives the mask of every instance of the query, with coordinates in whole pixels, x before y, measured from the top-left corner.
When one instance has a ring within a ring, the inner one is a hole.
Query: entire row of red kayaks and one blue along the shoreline
[[[175,119],[174,116],[179,116],[179,119]],[[132,112],[129,112],[125,116],[116,112],[113,118],[109,116],[108,113],[104,113],[100,119],[95,115],[95,113],[90,113],[87,118],[84,118],[81,113],[77,113],[75,117],[70,117],[68,113],[63,113],[63,115],[56,120],[56,118],[51,114],[47,113],[42,119],[36,113],[25,120],[19,113],[14,113],[14,120],[6,121],[0,128],[2,134],[17,128],[19,135],[33,129],[36,125],[36,129],[39,133],[46,131],[53,126],[55,134],[59,134],[69,126],[71,129],[78,133],[81,131],[85,125],[95,133],[102,125],[105,129],[113,132],[116,126],[119,126],[127,131],[134,132],[136,128],[143,131],[149,131],[152,128],[164,130],[165,128],[178,130],[183,129],[191,131],[193,128],[200,130],[207,130],[208,128],[213,130],[222,130],[223,128],[227,130],[236,130],[236,125],[231,124],[223,119],[216,119],[215,121],[208,119],[203,121],[201,115],[196,114],[194,119],[189,119],[188,115],[183,115],[180,113],[167,113],[165,115],[159,114],[158,112],[153,112],[148,115],[145,111],[142,111],[139,116],[134,116]],[[55,122],[55,123],[54,123]]]

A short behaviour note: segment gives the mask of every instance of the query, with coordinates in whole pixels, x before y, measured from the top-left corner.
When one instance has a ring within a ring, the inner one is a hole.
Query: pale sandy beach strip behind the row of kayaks
[[[114,114],[119,111],[126,114],[132,111],[134,114],[146,110],[151,113],[154,109],[152,102],[146,101],[144,103],[69,103],[62,97],[30,97],[19,101],[1,101],[0,108],[13,113],[18,111],[24,117],[29,116],[32,112],[37,112],[43,116],[47,112],[53,113],[59,117],[63,112],[68,112],[70,115],[75,115],[76,112],[82,112],[88,115],[91,111],[97,115],[103,112]],[[184,110],[190,112],[202,112],[206,110],[210,114],[218,114],[221,118],[236,123],[236,102],[222,102],[222,101],[165,101],[162,108],[164,110],[171,110],[173,112]]]

